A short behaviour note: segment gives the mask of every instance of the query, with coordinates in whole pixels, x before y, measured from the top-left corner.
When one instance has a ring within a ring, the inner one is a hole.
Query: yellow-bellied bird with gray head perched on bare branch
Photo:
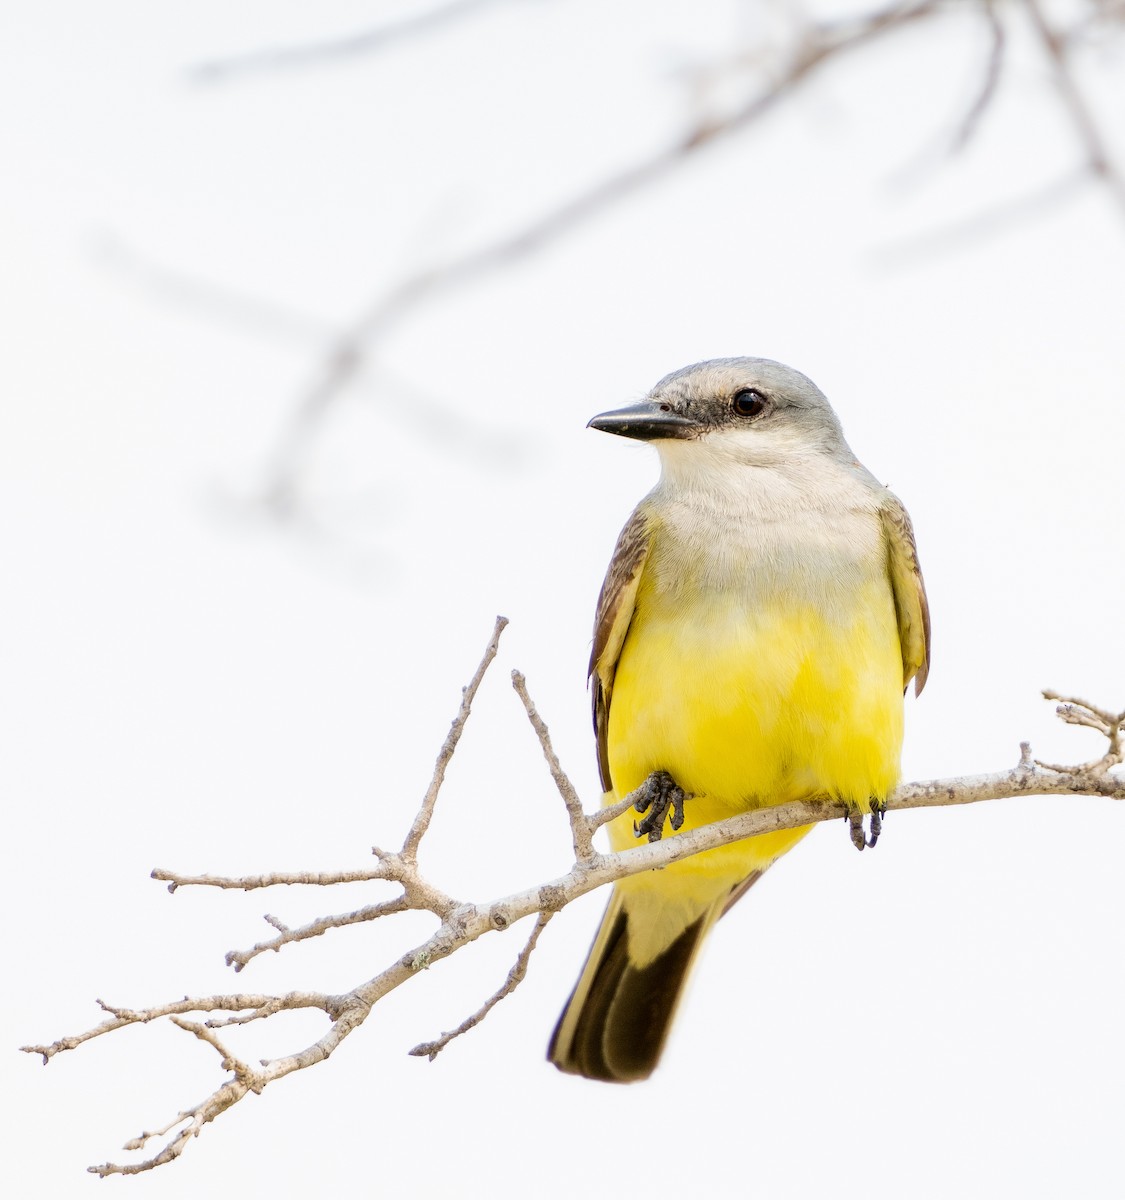
[[[684,367],[590,425],[654,443],[661,461],[594,626],[604,803],[642,785],[649,802],[639,826],[609,824],[614,848],[658,838],[669,809],[693,829],[823,797],[874,823],[898,782],[903,691],[922,690],[930,659],[902,503],[856,461],[820,390],[769,359]],[[619,881],[551,1061],[648,1078],[704,935],[808,828]]]

